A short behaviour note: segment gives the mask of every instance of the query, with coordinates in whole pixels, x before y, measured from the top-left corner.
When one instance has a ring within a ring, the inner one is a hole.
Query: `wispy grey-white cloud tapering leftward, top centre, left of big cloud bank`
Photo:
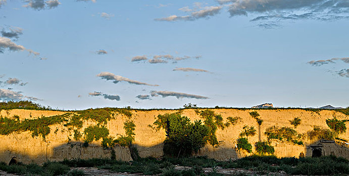
[[[184,12],[191,12],[190,15],[187,15],[187,16],[172,15],[169,17],[158,18],[155,20],[173,22],[173,21],[193,21],[201,18],[208,19],[209,17],[215,16],[216,14],[218,14],[221,11],[221,9],[222,9],[221,6],[210,6],[210,7],[204,7],[201,10],[192,12],[191,9],[184,7],[184,8],[181,8],[180,10]]]

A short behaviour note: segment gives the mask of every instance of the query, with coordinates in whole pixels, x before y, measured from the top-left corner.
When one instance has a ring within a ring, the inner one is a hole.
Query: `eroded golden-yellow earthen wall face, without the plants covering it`
[[[254,145],[261,140],[267,140],[267,136],[264,134],[268,127],[273,125],[280,127],[293,127],[290,125],[289,120],[293,118],[301,118],[301,125],[295,129],[298,133],[307,133],[312,130],[314,125],[328,129],[326,119],[332,119],[336,117],[338,120],[349,119],[348,116],[330,110],[322,110],[318,112],[306,111],[300,109],[271,109],[271,110],[238,110],[238,109],[212,109],[215,113],[221,114],[224,122],[227,117],[240,117],[241,121],[234,126],[225,128],[224,130],[218,129],[216,136],[220,141],[219,147],[212,147],[207,145],[200,150],[196,155],[206,155],[210,158],[218,160],[236,159],[249,155],[245,151],[239,151],[236,149],[236,139],[239,133],[242,131],[244,125],[254,126],[257,129],[257,135],[249,137],[249,142]],[[138,149],[140,157],[160,157],[163,153],[163,141],[166,138],[165,130],[161,129],[156,131],[149,127],[152,125],[158,115],[165,113],[175,113],[179,110],[131,110],[135,127],[135,141],[134,145]],[[260,119],[263,119],[263,123],[259,128],[256,119],[250,116],[250,112],[257,111],[260,114]],[[2,110],[0,114],[3,117],[12,117],[14,115],[20,116],[20,119],[35,118],[40,116],[54,116],[62,115],[66,112],[62,111],[34,111],[34,110]],[[191,121],[203,120],[199,115],[195,113],[193,109],[181,110],[182,116],[187,116]],[[127,117],[118,114],[115,119],[108,122],[106,127],[110,131],[110,135],[118,137],[125,135],[124,122]],[[83,129],[95,125],[94,121],[84,121]],[[73,131],[68,130],[63,125],[50,126],[51,132],[46,136],[45,141],[39,137],[32,137],[30,131],[26,132],[14,132],[10,135],[0,135],[0,161],[9,162],[13,156],[17,157],[18,161],[23,163],[43,163],[47,160],[58,161],[63,159],[72,158],[110,158],[111,149],[104,149],[101,146],[101,141],[94,141],[88,147],[82,146],[82,141],[74,141]],[[259,130],[261,133],[259,134]],[[349,130],[346,133],[339,136],[343,139],[349,139]],[[309,156],[308,145],[316,143],[316,141],[305,141],[305,145],[295,145],[293,143],[282,142],[278,140],[272,140],[271,145],[275,148],[275,155],[278,157],[298,157],[300,153],[304,153]],[[334,150],[334,154],[349,158],[349,152],[347,146],[337,145],[336,147],[326,147],[326,152]],[[344,147],[344,150],[343,150]],[[132,160],[128,147],[115,147],[116,159],[129,161]],[[253,147],[253,152],[255,149]],[[308,152],[308,153],[307,153]]]

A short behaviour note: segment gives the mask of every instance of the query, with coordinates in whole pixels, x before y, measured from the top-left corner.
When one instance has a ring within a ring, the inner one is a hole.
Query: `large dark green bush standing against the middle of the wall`
[[[164,153],[170,156],[190,156],[209,140],[209,129],[201,121],[191,123],[178,113],[159,115],[154,122],[157,129],[166,131]]]

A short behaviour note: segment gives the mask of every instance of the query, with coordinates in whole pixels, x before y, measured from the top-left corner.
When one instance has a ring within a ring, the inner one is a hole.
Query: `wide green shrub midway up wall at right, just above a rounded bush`
[[[269,139],[278,139],[280,141],[289,141],[298,145],[303,145],[303,142],[300,141],[302,139],[302,135],[298,134],[295,130],[289,127],[278,127],[272,126],[266,129],[265,135],[268,136]]]

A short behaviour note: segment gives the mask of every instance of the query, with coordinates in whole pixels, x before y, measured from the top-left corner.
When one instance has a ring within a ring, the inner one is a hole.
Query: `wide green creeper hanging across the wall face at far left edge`
[[[51,131],[49,125],[60,124],[66,121],[66,115],[52,116],[52,117],[40,117],[36,119],[25,119],[20,121],[18,116],[14,118],[0,118],[0,134],[8,135],[12,132],[18,131],[31,131],[32,137],[41,135],[42,139]]]

